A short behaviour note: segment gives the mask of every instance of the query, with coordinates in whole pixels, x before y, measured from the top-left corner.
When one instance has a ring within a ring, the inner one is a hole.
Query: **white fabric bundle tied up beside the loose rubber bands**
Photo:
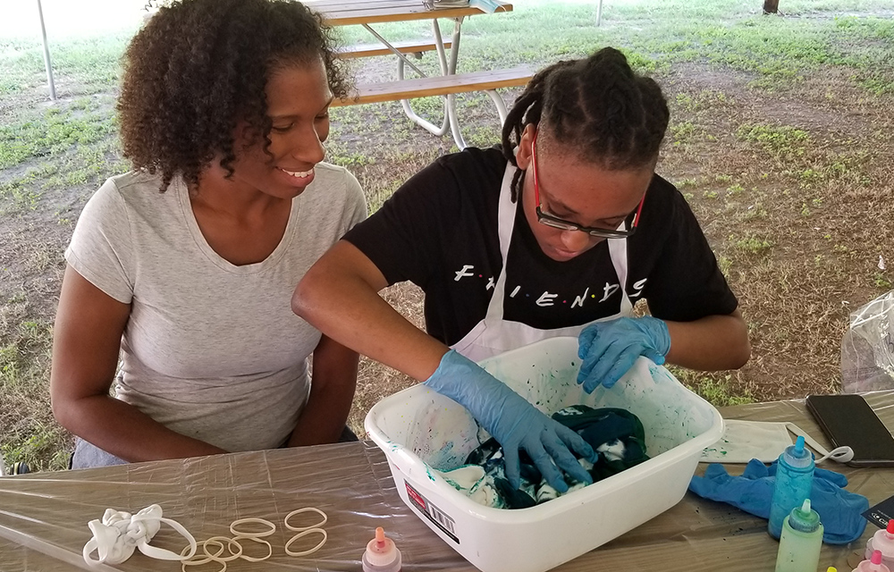
[[[162,523],[170,525],[189,541],[188,553],[181,556],[149,544]],[[83,555],[84,561],[90,566],[100,563],[121,564],[131,558],[136,549],[149,558],[160,560],[190,559],[197,549],[196,539],[192,534],[177,521],[163,518],[162,508],[157,504],[150,505],[134,515],[123,510],[105,509],[102,520],[91,520],[88,526],[93,538],[84,545]],[[93,551],[97,551],[98,559],[90,558]]]

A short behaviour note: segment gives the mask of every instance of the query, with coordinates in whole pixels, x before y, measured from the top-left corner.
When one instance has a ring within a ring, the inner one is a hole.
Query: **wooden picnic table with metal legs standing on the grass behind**
[[[455,96],[458,93],[483,91],[491,98],[500,115],[500,122],[506,120],[506,105],[502,97],[495,91],[497,88],[517,87],[527,84],[533,77],[528,66],[502,70],[481,70],[457,73],[457,62],[460,55],[460,38],[462,22],[467,16],[485,14],[484,10],[474,5],[451,7],[434,7],[435,0],[307,0],[305,4],[320,13],[330,26],[360,25],[367,29],[378,42],[373,46],[348,46],[342,49],[342,57],[357,58],[372,55],[393,54],[397,57],[397,76],[394,81],[382,81],[357,86],[352,97],[333,102],[333,106],[378,103],[384,101],[401,101],[404,113],[434,135],[445,135],[448,130],[457,147],[466,147],[466,141],[460,132],[460,120],[456,110]],[[512,4],[498,1],[494,13],[512,11]],[[444,40],[439,20],[453,21],[453,33],[450,40]],[[433,38],[414,42],[392,42],[373,28],[374,24],[394,21],[430,20]],[[437,53],[440,75],[429,75],[413,63],[409,56],[421,55],[424,52]],[[409,67],[417,75],[406,77]],[[442,96],[444,98],[443,121],[435,125],[413,110],[411,99],[417,97]]]

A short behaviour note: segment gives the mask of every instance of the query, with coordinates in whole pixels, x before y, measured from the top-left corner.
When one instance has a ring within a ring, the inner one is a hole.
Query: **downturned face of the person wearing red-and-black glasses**
[[[541,211],[580,226],[608,231],[617,229],[637,211],[654,176],[654,162],[634,169],[611,170],[582,160],[573,148],[555,142],[547,130],[536,135],[536,126],[529,124],[519,141],[516,160],[519,169],[525,170],[520,200],[527,223],[544,254],[564,262],[605,239],[586,231],[564,231],[538,221],[535,151]]]

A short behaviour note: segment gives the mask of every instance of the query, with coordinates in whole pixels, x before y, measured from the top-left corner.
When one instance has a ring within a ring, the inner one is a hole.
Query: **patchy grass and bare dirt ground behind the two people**
[[[785,4],[778,17],[734,0],[628,0],[606,6],[596,28],[592,4],[532,0],[463,26],[460,71],[541,66],[611,45],[662,84],[671,126],[658,171],[684,192],[751,331],[754,357],[742,370],[675,370],[716,405],[836,391],[849,312],[894,282],[894,11],[882,0]],[[377,29],[395,40],[431,34],[425,21]],[[449,37],[452,26],[442,29]],[[375,41],[359,27],[337,31],[343,43]],[[127,169],[114,97],[129,35],[54,41],[54,104],[38,42],[0,38],[0,453],[39,469],[67,462],[70,437],[48,407],[51,324],[80,208]],[[418,63],[436,69],[430,55]],[[393,69],[390,58],[354,67],[360,79]],[[499,140],[487,97],[457,101],[470,144]],[[440,122],[439,99],[414,107]],[[455,150],[397,103],[342,107],[332,117],[328,156],[358,177],[371,210]],[[416,289],[384,295],[421,323]],[[366,410],[409,383],[364,360],[352,427],[362,432]]]

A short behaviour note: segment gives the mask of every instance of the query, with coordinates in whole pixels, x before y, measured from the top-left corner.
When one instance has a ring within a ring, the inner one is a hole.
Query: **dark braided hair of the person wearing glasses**
[[[662,88],[631,70],[618,50],[603,47],[537,72],[506,117],[502,152],[518,166],[512,150],[522,131],[544,122],[552,139],[582,159],[613,171],[642,167],[658,156],[670,116]],[[523,181],[519,170],[512,200]]]

